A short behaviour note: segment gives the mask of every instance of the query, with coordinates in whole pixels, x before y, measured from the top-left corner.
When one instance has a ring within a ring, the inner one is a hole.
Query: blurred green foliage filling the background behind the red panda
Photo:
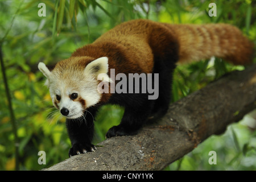
[[[208,16],[210,2],[217,5],[216,17]],[[18,135],[15,141],[1,74],[1,170],[15,169],[15,146],[18,146],[18,167],[23,170],[47,168],[68,158],[71,143],[65,119],[52,106],[48,89],[43,85],[44,77],[37,68],[39,61],[51,65],[66,59],[76,48],[92,43],[115,25],[137,18],[167,23],[230,23],[240,27],[254,43],[256,40],[256,2],[252,0],[44,0],[43,3],[46,16],[38,16],[39,1],[0,1],[0,45]],[[243,67],[221,59],[179,66],[174,76],[173,101],[234,69]],[[106,131],[119,123],[122,114],[120,107],[102,107],[96,118],[94,144],[105,139]],[[234,124],[224,135],[210,137],[166,170],[255,170],[255,136],[255,129],[250,130],[243,123]],[[45,165],[38,164],[41,150],[46,151]],[[208,153],[212,150],[217,152],[216,165],[208,163]]]

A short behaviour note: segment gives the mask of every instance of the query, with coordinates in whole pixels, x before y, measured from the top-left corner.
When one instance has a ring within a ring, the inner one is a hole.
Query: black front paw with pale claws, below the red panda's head
[[[97,148],[93,144],[81,144],[75,143],[69,149],[68,155],[69,157],[73,155],[86,154],[87,152],[94,152]]]

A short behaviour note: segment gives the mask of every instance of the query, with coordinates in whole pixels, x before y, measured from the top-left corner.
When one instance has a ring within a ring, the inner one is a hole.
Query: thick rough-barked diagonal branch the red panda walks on
[[[45,170],[160,170],[256,108],[256,65],[235,71],[170,105],[138,135],[114,137],[96,152],[72,156]]]

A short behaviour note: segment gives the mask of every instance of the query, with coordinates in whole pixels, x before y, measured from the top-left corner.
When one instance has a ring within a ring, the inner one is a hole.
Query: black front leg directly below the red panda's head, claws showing
[[[95,109],[88,109],[83,117],[66,120],[68,135],[72,144],[68,152],[69,156],[96,150],[92,144],[96,111]]]

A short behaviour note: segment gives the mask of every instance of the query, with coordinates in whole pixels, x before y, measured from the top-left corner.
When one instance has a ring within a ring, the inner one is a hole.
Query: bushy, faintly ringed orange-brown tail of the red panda
[[[233,64],[249,64],[253,60],[254,45],[242,32],[229,24],[164,24],[179,40],[179,63],[223,58]]]

